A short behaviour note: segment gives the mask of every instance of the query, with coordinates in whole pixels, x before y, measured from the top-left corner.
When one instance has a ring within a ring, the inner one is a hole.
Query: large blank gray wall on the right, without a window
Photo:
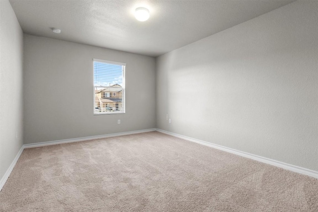
[[[157,128],[318,171],[317,8],[295,1],[157,58]]]

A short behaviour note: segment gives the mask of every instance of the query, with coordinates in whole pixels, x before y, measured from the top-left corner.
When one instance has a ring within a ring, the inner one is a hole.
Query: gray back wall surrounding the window
[[[93,58],[126,63],[125,114],[93,115]],[[155,128],[155,68],[152,57],[24,34],[24,143]]]

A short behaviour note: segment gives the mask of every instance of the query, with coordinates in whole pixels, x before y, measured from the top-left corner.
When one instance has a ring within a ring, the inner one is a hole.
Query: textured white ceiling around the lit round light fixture
[[[10,0],[24,33],[159,56],[293,0]],[[148,21],[134,18],[147,7]],[[55,34],[51,28],[62,30]]]

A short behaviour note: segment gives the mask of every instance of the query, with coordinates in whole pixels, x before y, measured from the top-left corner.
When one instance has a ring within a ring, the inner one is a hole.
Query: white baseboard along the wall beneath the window
[[[148,133],[148,132],[153,132],[153,131],[156,131],[156,128],[147,129],[147,130],[130,131],[130,132],[124,132],[124,133],[113,133],[113,134],[107,134],[107,135],[101,135],[101,136],[89,136],[89,137],[82,137],[82,138],[76,138],[76,139],[66,139],[66,140],[59,140],[59,141],[30,143],[30,144],[24,144],[23,146],[24,146],[24,148],[34,148],[34,147],[48,146],[48,145],[61,144],[61,143],[90,141],[90,140],[95,140],[95,139],[105,139],[105,138],[117,137],[117,136],[127,136],[127,135],[132,135],[132,134]]]

